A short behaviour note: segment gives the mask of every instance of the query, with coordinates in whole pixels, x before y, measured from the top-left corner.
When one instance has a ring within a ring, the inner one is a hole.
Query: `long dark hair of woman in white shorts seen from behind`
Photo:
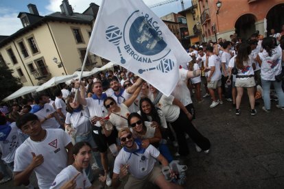
[[[248,61],[249,59],[248,55],[250,55],[251,51],[252,50],[250,48],[250,45],[248,45],[247,43],[241,43],[241,45],[239,45],[236,57],[237,68],[239,69],[244,68],[244,62]]]

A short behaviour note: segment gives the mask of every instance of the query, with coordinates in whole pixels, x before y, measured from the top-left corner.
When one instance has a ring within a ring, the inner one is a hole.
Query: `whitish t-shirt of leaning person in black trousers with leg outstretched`
[[[180,115],[180,108],[177,105],[173,105],[174,96],[169,97],[163,95],[158,101],[158,108],[160,108],[165,114],[167,122],[174,122]]]

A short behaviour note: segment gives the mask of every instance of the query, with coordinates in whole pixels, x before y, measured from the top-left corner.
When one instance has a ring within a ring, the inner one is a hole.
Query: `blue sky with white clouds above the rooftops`
[[[115,0],[114,0],[115,1]],[[136,0],[132,0],[136,1]],[[143,0],[146,5],[154,5],[165,0]],[[183,0],[185,9],[191,6],[191,0]],[[29,12],[27,5],[35,4],[40,16],[46,16],[53,12],[60,12],[62,0],[1,0],[0,1],[0,36],[10,36],[21,29],[20,18],[17,18],[19,12]],[[88,8],[90,3],[101,5],[102,0],[69,0],[74,12],[82,13]],[[171,12],[180,12],[182,10],[180,0],[172,3],[160,5],[152,8],[152,11],[159,17],[165,16]]]

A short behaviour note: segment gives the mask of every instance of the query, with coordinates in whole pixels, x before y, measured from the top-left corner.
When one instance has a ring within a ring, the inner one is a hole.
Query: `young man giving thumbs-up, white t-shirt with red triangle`
[[[56,175],[73,163],[71,138],[62,129],[43,129],[35,114],[23,114],[16,126],[29,138],[16,149],[14,184],[27,186],[35,171],[39,188],[50,188]]]

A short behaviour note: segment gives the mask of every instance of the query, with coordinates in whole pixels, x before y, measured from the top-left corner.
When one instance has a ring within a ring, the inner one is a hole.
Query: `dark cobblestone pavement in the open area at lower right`
[[[272,102],[271,112],[263,112],[263,101],[259,102],[256,116],[250,116],[246,95],[240,116],[226,101],[215,108],[209,108],[210,97],[194,103],[193,123],[211,141],[211,151],[196,152],[189,139],[190,154],[183,160],[188,166],[185,188],[284,187],[284,111]],[[20,187],[10,181],[0,188]]]

